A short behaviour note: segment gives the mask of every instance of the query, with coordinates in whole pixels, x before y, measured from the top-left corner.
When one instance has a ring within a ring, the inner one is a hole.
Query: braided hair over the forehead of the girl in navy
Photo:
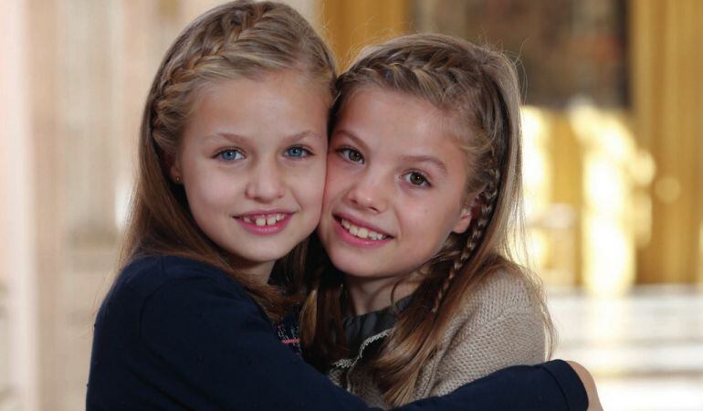
[[[215,7],[176,39],[150,95],[153,140],[173,154],[187,121],[194,91],[218,80],[254,78],[296,69],[332,96],[331,51],[289,5],[238,1]]]

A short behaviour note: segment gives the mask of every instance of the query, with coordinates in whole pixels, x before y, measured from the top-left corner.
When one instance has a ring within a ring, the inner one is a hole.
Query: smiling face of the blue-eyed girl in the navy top
[[[293,71],[196,96],[171,177],[205,235],[262,281],[320,220],[328,102]]]

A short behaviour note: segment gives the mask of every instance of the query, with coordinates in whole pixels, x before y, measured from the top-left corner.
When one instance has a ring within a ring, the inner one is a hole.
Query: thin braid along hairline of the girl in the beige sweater
[[[349,71],[341,75],[339,80],[340,89],[349,90],[355,84],[372,82],[391,90],[408,92],[422,100],[429,100],[439,108],[445,108],[449,112],[459,112],[465,115],[469,124],[477,127],[478,130],[491,130],[490,122],[485,124],[483,119],[475,114],[471,114],[474,107],[482,102],[477,98],[479,94],[489,94],[482,85],[489,84],[486,73],[488,56],[485,52],[467,47],[458,46],[454,43],[446,43],[442,47],[425,47],[422,40],[414,47],[399,46],[397,48],[386,49],[385,53],[371,47],[368,54],[355,63]],[[476,53],[476,54],[475,54]],[[341,103],[338,100],[336,111],[339,111]],[[490,112],[490,109],[488,109]],[[488,115],[489,118],[494,117]],[[495,119],[491,119],[495,120]],[[463,246],[456,244],[454,247],[446,248],[435,256],[435,262],[451,262],[446,269],[441,270],[439,276],[440,285],[436,287],[435,299],[432,302],[432,312],[439,309],[444,300],[447,290],[451,286],[456,275],[467,265],[467,262],[480,247],[482,237],[496,207],[499,185],[499,164],[498,158],[502,155],[504,148],[499,133],[490,134],[488,132],[479,133],[482,138],[474,145],[474,163],[488,164],[488,170],[478,173],[473,183],[469,184],[469,191],[483,185],[484,188],[477,195],[477,202],[480,205],[479,215],[471,224],[469,235]],[[484,140],[485,139],[485,140]],[[445,274],[446,273],[446,274]]]

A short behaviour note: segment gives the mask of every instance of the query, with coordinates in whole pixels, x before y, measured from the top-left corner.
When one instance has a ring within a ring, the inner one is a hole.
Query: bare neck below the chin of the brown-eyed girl
[[[414,275],[403,277],[403,279],[399,279],[397,276],[381,279],[344,276],[344,285],[349,293],[353,315],[383,310],[393,301],[401,300],[412,294],[419,284],[420,277]],[[394,292],[393,287],[395,287]]]

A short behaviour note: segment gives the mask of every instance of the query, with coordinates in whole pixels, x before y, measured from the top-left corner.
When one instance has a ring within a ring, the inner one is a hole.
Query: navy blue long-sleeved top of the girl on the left
[[[95,322],[88,410],[368,410],[278,341],[241,285],[203,263],[141,258],[125,268]],[[402,410],[583,410],[561,361],[488,375]]]

